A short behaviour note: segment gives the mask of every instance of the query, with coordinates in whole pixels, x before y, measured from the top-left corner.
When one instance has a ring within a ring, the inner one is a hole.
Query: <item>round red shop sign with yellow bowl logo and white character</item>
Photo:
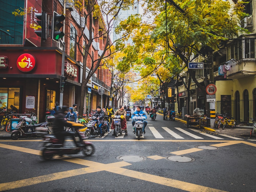
[[[22,72],[29,72],[34,69],[36,64],[35,57],[28,53],[22,54],[17,59],[17,67]]]

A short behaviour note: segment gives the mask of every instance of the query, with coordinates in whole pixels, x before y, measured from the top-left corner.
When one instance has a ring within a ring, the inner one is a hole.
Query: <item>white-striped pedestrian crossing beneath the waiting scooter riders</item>
[[[161,128],[155,128],[154,126],[147,126],[146,127],[146,134],[142,135],[140,138],[146,138],[146,139],[170,139],[170,140],[187,140],[187,139],[197,139],[197,140],[207,140],[207,139],[216,139],[216,140],[226,140],[227,138],[230,139],[234,139],[234,140],[244,140],[244,138],[240,138],[240,137],[235,137],[235,136],[230,136],[230,135],[226,135],[226,134],[216,134],[216,135],[212,135],[212,134],[208,134],[205,132],[202,132],[202,130],[198,130],[198,129],[193,129],[193,128],[188,128],[191,132],[186,131],[180,127],[172,127],[172,128],[168,128],[168,127],[161,127]],[[125,136],[125,133],[119,134],[118,137],[114,137],[112,136],[113,131],[111,130],[110,133],[105,133],[101,139],[103,139],[104,137],[109,138],[111,137],[111,139],[113,138],[124,138],[124,139],[128,139],[129,136],[133,136],[135,138],[135,134],[132,132],[129,132],[131,129],[128,128],[128,136]],[[151,133],[150,133],[151,132]],[[95,137],[95,138],[99,138],[99,136]],[[130,139],[130,138],[129,138]],[[256,141],[255,139],[251,139],[251,141]]]

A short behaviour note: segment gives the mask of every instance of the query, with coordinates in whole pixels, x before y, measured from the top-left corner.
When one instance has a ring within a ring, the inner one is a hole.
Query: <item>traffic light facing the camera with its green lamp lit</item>
[[[59,39],[64,37],[64,33],[60,31],[60,28],[63,26],[62,21],[65,20],[64,15],[58,15],[55,11],[53,12],[53,20],[52,20],[52,40],[59,42]]]

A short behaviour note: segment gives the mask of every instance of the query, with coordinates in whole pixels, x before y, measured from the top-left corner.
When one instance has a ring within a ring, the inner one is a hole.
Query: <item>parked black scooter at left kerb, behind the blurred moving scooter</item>
[[[16,126],[17,130],[12,131],[11,138],[17,140],[18,138],[28,138],[28,137],[42,137],[50,133],[48,128],[48,122],[42,122],[39,124],[27,124],[26,119],[23,119]],[[28,118],[29,119],[29,118]],[[31,120],[32,121],[32,120]]]

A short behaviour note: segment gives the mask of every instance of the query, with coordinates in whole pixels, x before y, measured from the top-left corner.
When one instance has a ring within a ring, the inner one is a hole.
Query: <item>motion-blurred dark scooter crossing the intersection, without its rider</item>
[[[72,127],[78,131],[79,128],[81,128],[83,125],[80,123],[72,123]],[[56,138],[54,135],[45,135],[43,137],[44,141],[44,148],[42,149],[42,157],[45,160],[50,160],[54,155],[62,156],[64,154],[72,155],[72,154],[78,154],[80,151],[83,152],[85,156],[90,156],[94,153],[95,149],[91,142],[87,142],[82,137],[83,134],[81,132],[76,132],[77,135],[83,143],[83,147],[65,147],[63,146],[63,143]]]

